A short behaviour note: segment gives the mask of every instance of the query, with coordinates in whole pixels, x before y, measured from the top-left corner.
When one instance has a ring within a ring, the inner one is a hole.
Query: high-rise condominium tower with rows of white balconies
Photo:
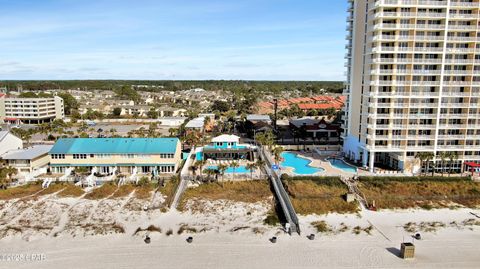
[[[480,160],[479,1],[349,1],[346,157],[407,173]]]

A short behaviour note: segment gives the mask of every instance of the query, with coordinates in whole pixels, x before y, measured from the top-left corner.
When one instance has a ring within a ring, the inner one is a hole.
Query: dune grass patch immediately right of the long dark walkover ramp
[[[284,181],[295,211],[300,215],[354,213],[359,210],[358,204],[347,203],[343,195],[348,191],[338,179],[322,180],[315,178],[289,178]]]

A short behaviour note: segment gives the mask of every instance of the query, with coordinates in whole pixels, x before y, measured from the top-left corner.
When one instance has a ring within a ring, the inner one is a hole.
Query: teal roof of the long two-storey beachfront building
[[[175,153],[178,138],[61,138],[50,154]]]

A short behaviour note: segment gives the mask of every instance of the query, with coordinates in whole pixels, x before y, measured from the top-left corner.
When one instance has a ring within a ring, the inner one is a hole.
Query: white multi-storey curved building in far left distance
[[[0,121],[39,124],[63,119],[63,99],[7,97],[0,94]]]

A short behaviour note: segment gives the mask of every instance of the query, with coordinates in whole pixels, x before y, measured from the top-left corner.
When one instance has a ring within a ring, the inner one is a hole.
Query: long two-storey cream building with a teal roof
[[[49,154],[54,173],[87,167],[99,173],[174,174],[181,153],[178,138],[62,138]]]

